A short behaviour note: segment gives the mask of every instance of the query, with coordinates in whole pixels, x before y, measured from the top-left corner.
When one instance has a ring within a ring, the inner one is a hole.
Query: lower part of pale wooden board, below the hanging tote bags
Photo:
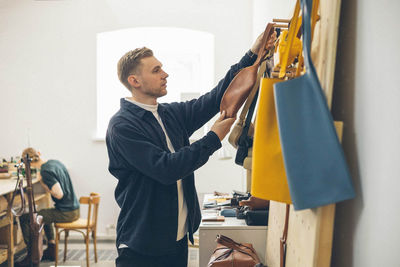
[[[335,122],[335,127],[341,139],[343,123]],[[286,266],[330,266],[335,206],[335,204],[331,204],[295,211],[291,205]],[[280,238],[285,224],[285,213],[285,203],[270,202],[265,259],[269,267],[280,266]]]

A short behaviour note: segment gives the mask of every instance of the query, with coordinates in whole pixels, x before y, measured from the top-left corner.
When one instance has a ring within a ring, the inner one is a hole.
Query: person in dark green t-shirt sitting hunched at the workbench
[[[31,168],[40,169],[40,173],[38,173],[40,183],[51,194],[55,203],[55,208],[38,211],[38,214],[43,216],[44,231],[48,242],[42,260],[54,261],[56,251],[52,224],[77,220],[79,218],[79,202],[64,164],[58,160],[44,160],[41,158],[40,152],[34,148],[25,149],[22,157],[25,158],[26,154],[32,159]],[[30,242],[29,214],[23,214],[20,217],[20,223],[25,244],[28,245]],[[17,266],[30,266],[30,251],[29,246],[27,247],[28,255],[24,260],[16,263]]]

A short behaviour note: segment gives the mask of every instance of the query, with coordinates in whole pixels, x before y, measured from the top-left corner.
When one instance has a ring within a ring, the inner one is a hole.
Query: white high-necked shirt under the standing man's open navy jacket
[[[157,112],[158,104],[147,105],[147,104],[142,104],[142,103],[136,102],[134,100],[130,100],[128,98],[125,98],[125,100],[153,113],[154,117],[157,119],[158,123],[160,124],[160,126],[165,134],[165,139],[167,140],[167,146],[168,146],[169,150],[171,151],[171,153],[174,153],[175,149],[172,146],[171,140],[169,140],[167,131],[165,130],[164,124]],[[176,235],[176,240],[178,241],[178,240],[181,240],[186,235],[186,233],[188,231],[188,225],[187,225],[187,206],[186,206],[185,197],[183,195],[182,179],[180,179],[176,182],[176,186],[178,189],[178,232]]]

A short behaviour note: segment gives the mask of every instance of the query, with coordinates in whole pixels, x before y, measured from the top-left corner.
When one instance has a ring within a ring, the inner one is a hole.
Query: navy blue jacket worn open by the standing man
[[[189,137],[219,112],[221,98],[234,75],[253,62],[254,56],[246,53],[212,91],[191,101],[158,105],[175,153],[169,151],[153,114],[121,99],[121,108],[111,118],[106,135],[109,171],[118,179],[115,199],[121,208],[117,247],[126,244],[147,255],[175,252],[179,179],[193,243],[201,220],[193,172],[207,162],[221,142],[212,131],[192,144]]]

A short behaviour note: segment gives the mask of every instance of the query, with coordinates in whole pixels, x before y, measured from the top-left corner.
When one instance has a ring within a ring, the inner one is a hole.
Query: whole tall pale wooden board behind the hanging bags
[[[340,3],[340,0],[320,0],[320,20],[316,24],[311,52],[329,107],[333,93]],[[343,124],[335,122],[335,126],[341,139]],[[266,263],[269,267],[280,266],[279,245],[285,211],[284,203],[271,201],[266,249]],[[330,266],[334,218],[335,204],[301,211],[294,211],[291,206],[286,266]]]

